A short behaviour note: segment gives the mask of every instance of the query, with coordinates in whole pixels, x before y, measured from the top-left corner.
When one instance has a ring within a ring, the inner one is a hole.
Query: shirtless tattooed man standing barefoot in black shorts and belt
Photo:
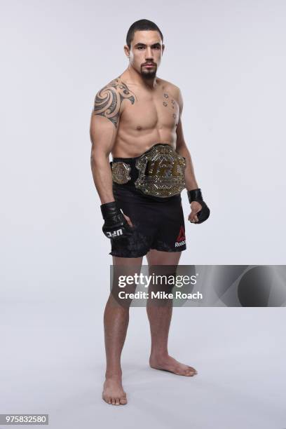
[[[204,222],[210,214],[184,142],[182,95],[177,86],[156,76],[164,48],[163,34],[154,22],[132,24],[124,46],[128,68],[95,97],[91,168],[114,268],[141,266],[144,255],[149,266],[177,266],[186,249],[182,189],[188,191],[191,203],[190,222]],[[127,403],[121,351],[128,311],[126,306],[114,306],[114,297],[109,296],[104,311],[107,369],[102,393],[109,404]],[[197,374],[168,355],[172,306],[147,306],[147,313],[149,365],[183,376]]]

